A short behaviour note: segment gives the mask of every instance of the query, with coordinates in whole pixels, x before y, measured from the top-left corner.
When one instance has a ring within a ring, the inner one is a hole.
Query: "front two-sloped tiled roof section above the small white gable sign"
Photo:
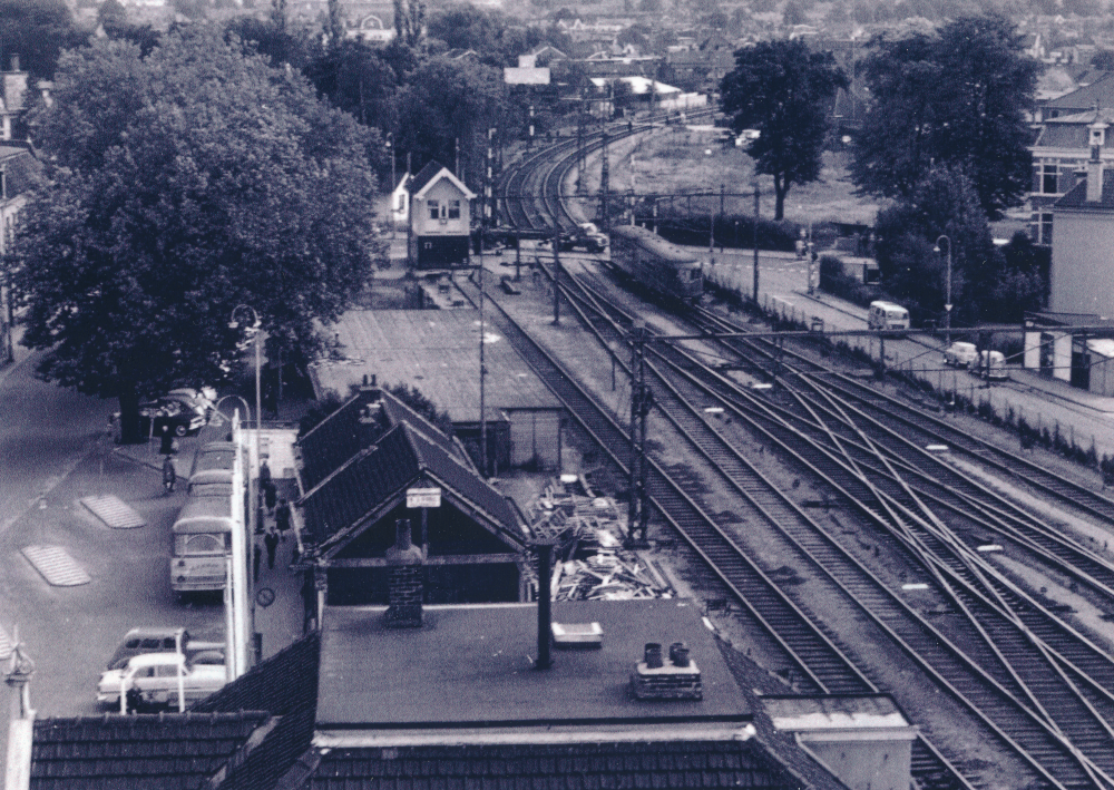
[[[358,451],[299,501],[305,527],[322,546],[350,537],[377,510],[391,507],[419,479],[437,482],[450,501],[486,517],[489,528],[521,540],[518,518],[506,498],[475,469],[409,422],[400,422]]]

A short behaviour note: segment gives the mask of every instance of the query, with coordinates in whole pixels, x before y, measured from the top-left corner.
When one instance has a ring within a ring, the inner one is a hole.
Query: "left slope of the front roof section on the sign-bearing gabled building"
[[[305,528],[322,543],[351,527],[421,474],[403,426],[387,431],[374,449],[362,450],[302,497]]]

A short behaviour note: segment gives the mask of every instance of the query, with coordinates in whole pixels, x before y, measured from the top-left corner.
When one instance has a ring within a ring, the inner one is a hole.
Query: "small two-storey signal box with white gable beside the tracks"
[[[476,193],[436,160],[418,172],[409,191],[410,265],[421,270],[467,266],[470,201]]]

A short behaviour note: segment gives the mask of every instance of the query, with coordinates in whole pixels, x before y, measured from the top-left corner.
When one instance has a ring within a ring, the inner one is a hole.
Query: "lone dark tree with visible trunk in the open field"
[[[847,85],[831,52],[810,52],[799,40],[761,41],[735,52],[735,68],[720,87],[723,111],[736,134],[760,133],[746,153],[759,173],[773,176],[776,220],[784,217],[793,184],[820,177],[824,103]]]

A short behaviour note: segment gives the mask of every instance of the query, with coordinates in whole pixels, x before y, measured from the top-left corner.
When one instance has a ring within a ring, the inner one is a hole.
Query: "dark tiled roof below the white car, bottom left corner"
[[[270,716],[164,713],[35,722],[32,790],[193,790]]]

